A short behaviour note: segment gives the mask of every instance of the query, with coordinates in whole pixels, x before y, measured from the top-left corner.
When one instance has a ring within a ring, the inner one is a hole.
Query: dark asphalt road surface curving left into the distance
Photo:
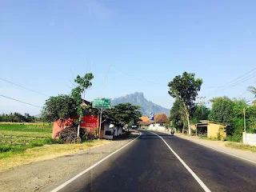
[[[162,138],[141,132],[130,145],[59,191],[256,191],[256,164],[154,132],[193,176]]]

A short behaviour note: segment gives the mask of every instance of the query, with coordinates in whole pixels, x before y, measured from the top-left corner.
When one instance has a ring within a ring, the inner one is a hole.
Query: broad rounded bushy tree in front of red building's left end
[[[59,126],[63,127],[65,120],[74,118],[76,111],[77,105],[74,98],[66,94],[59,94],[46,100],[42,107],[42,119],[46,122],[55,122],[59,119]]]

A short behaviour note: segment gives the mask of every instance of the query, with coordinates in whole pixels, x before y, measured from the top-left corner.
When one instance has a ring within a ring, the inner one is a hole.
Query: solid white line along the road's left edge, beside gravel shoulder
[[[142,135],[141,132],[139,132],[139,135],[137,138],[139,138]],[[73,178],[70,178],[69,180],[67,180],[66,182],[64,182],[62,185],[58,186],[57,188],[55,188],[54,190],[51,190],[51,192],[57,192],[58,190],[61,190],[63,187],[67,186],[68,184],[70,184],[70,182],[73,182],[75,179],[79,178],[80,176],[82,176],[82,174],[86,174],[86,172],[88,172],[89,170],[93,169],[95,166],[98,166],[98,164],[100,164],[101,162],[104,162],[107,158],[110,158],[113,154],[116,154],[119,150],[122,150],[123,148],[125,148],[126,146],[130,145],[130,143],[134,142],[137,138],[134,138],[132,141],[128,142],[125,146],[122,146],[121,148],[119,148],[118,150],[115,150],[112,154],[109,154],[108,156],[106,156],[105,158],[102,158],[102,160],[96,162],[94,165],[88,167],[86,170],[83,170],[80,174],[75,175]]]

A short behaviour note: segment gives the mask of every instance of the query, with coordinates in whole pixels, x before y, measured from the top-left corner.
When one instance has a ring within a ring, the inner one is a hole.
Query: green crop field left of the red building
[[[58,143],[51,138],[52,124],[0,124],[0,158],[45,144]]]

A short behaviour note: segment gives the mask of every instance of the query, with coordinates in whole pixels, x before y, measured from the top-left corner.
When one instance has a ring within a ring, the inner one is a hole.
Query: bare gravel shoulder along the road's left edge
[[[95,162],[138,137],[138,134],[138,132],[132,132],[126,138],[115,140],[105,146],[98,146],[77,154],[70,154],[44,162],[35,162],[2,172],[0,173],[0,191],[45,190],[47,186],[62,181],[70,174],[76,174],[78,171],[81,172],[94,165]]]

